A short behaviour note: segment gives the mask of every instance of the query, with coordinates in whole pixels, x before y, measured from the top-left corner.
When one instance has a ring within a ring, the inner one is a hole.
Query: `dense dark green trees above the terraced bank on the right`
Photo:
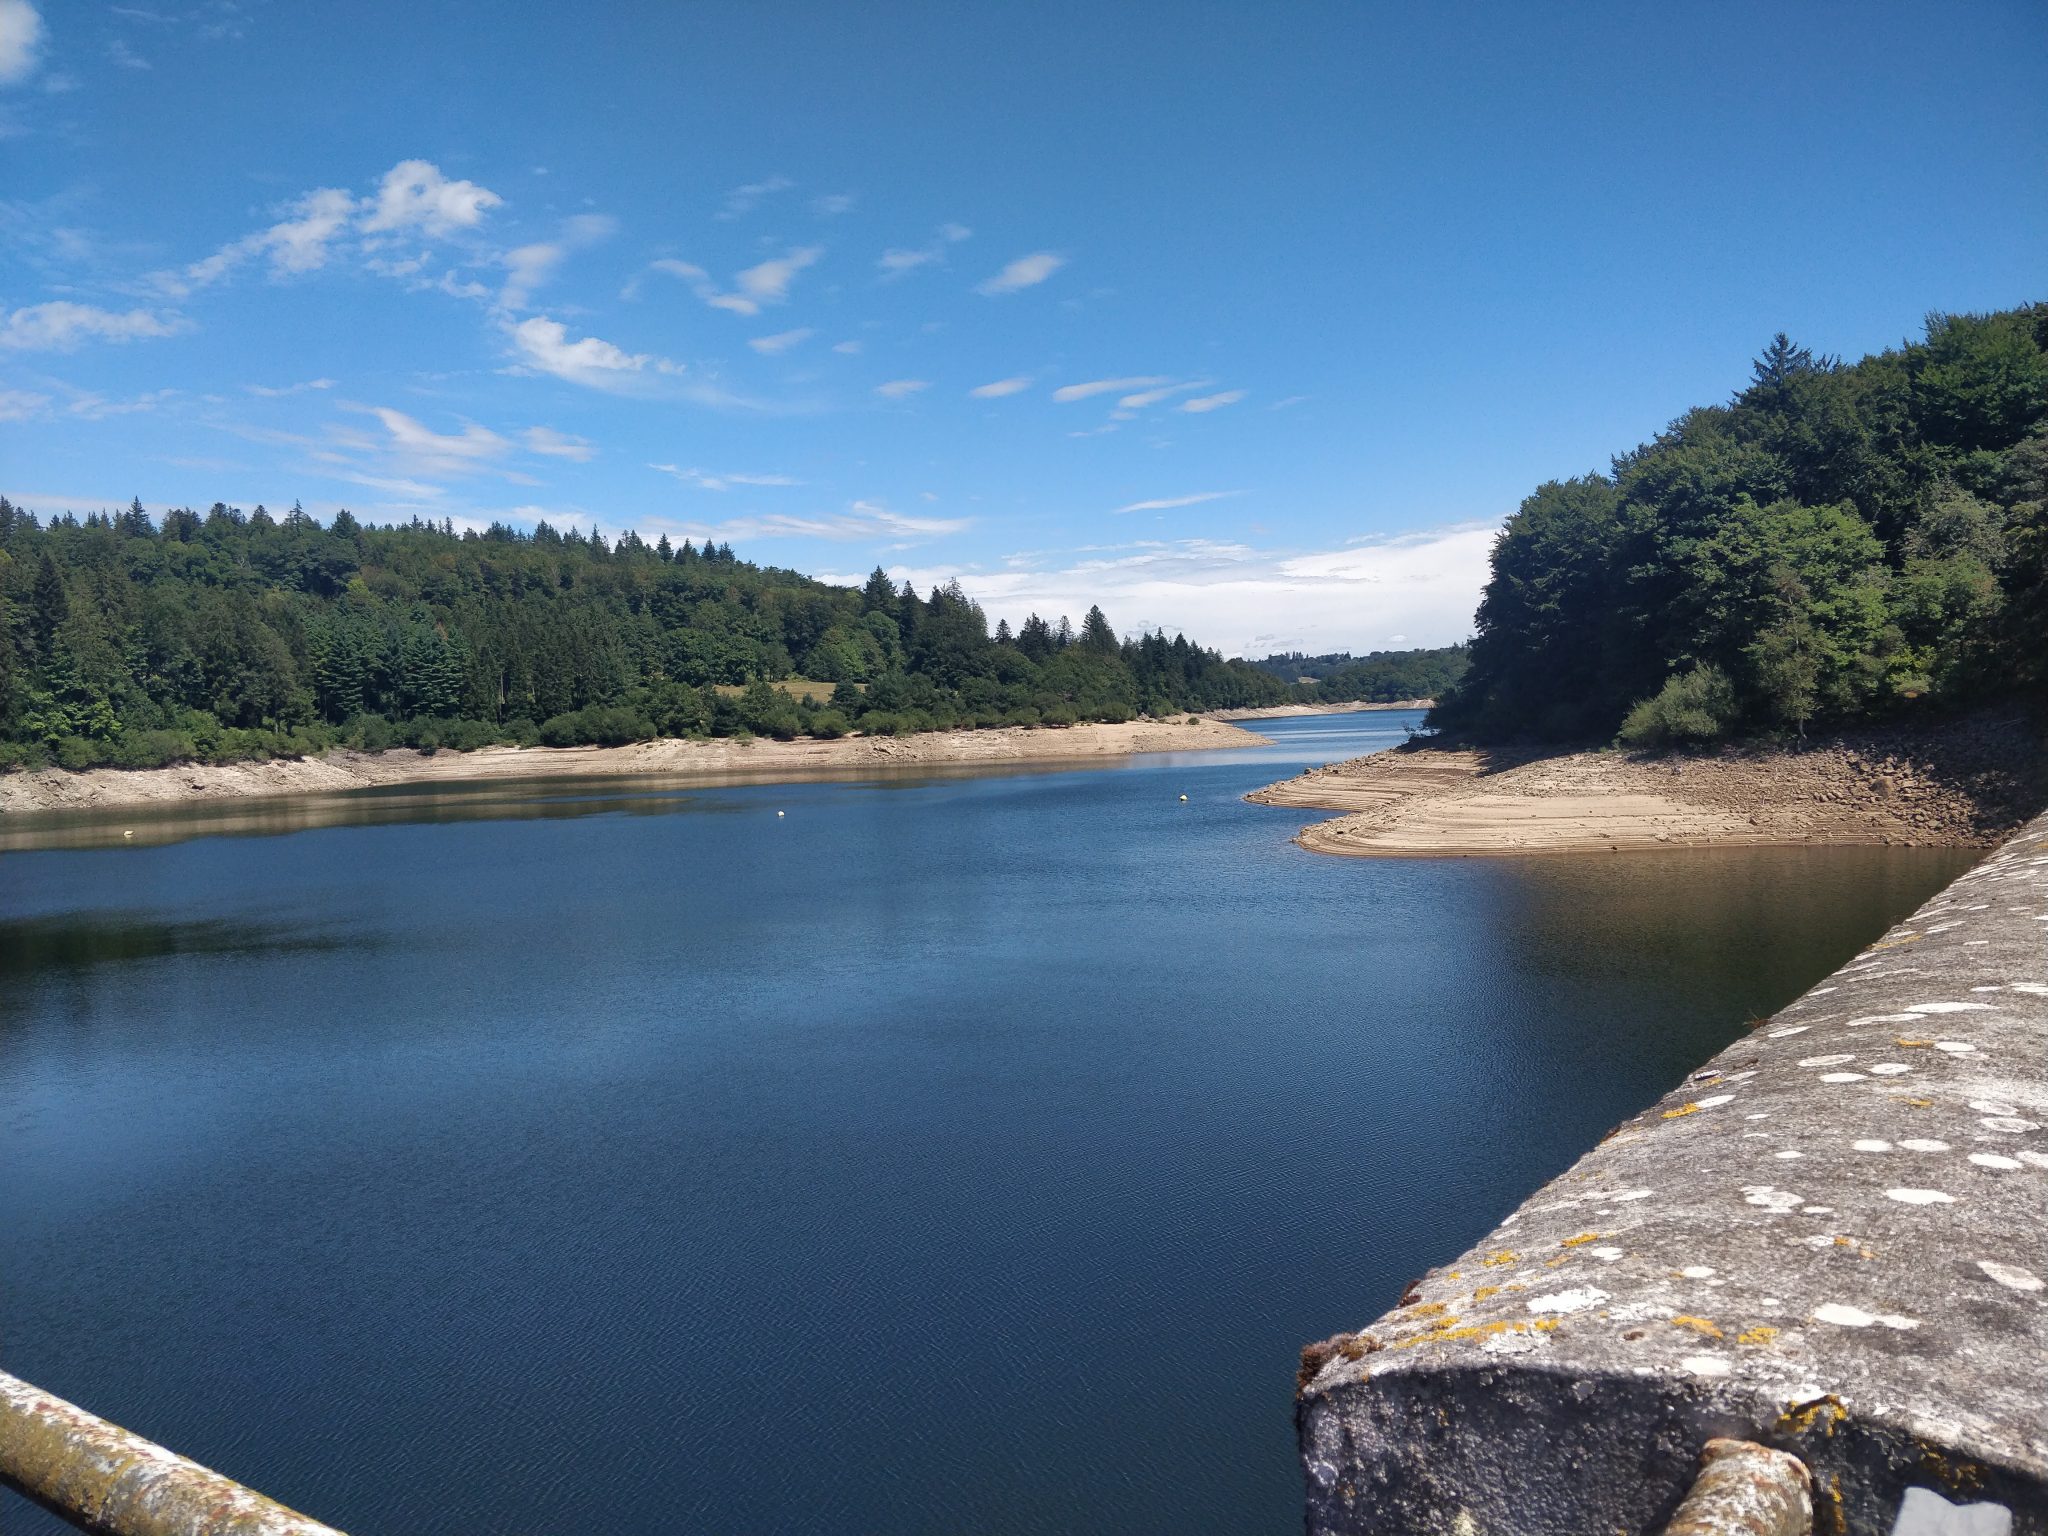
[[[1778,336],[1726,406],[1507,520],[1452,737],[1804,735],[2048,692],[2048,305],[1843,365]]]

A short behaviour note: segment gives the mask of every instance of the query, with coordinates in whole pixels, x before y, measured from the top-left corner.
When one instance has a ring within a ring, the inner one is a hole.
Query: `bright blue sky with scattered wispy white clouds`
[[[2048,8],[0,0],[0,489],[592,522],[1233,653],[2048,297]]]

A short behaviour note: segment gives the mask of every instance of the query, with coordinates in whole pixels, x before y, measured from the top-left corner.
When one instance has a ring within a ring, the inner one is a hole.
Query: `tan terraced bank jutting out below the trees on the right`
[[[2042,807],[2048,774],[2036,727],[1980,717],[1923,731],[1864,731],[1804,752],[1638,758],[1395,748],[1311,768],[1249,799],[1343,811],[1296,838],[1323,854],[1980,848]]]

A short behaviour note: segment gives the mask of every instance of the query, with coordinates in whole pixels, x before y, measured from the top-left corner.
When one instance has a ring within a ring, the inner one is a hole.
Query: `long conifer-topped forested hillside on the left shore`
[[[793,676],[836,686],[772,686]],[[918,596],[877,569],[834,588],[729,545],[219,504],[43,522],[0,498],[0,766],[1069,725],[1284,698],[1182,637],[1118,641],[1100,608],[1079,631],[1034,616],[991,635],[958,586]]]

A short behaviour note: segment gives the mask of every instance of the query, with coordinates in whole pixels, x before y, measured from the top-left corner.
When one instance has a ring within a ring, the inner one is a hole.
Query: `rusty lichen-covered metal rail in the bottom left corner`
[[[104,1536],[340,1536],[6,1372],[0,1483]]]

